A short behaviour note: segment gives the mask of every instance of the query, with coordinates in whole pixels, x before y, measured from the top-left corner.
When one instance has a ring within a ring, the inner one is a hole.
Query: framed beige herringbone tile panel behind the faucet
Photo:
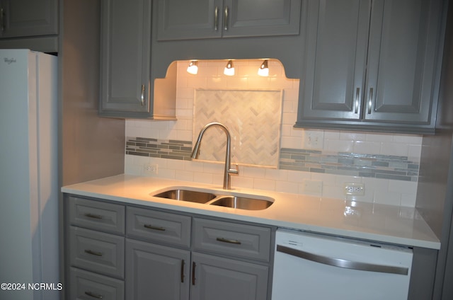
[[[220,122],[231,134],[231,161],[277,168],[282,91],[196,90],[193,141],[200,129]],[[225,134],[210,129],[202,139],[200,159],[224,161]]]

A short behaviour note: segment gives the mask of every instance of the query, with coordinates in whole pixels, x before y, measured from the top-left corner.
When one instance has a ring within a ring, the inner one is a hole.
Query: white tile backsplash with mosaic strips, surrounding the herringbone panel
[[[281,89],[279,168],[240,166],[233,188],[256,188],[351,199],[344,183],[364,183],[354,200],[415,207],[422,136],[336,130],[295,129],[299,79],[287,79],[282,64],[269,61],[270,75],[257,75],[258,59],[234,61],[236,75],[225,76],[226,61],[200,61],[197,75],[178,62],[177,121],[126,121],[125,173],[147,175],[157,164],[159,178],[222,185],[223,164],[190,161],[195,90]]]

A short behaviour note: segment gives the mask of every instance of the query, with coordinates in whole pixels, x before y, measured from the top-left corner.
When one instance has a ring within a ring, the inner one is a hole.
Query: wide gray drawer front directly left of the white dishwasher
[[[268,262],[270,228],[194,218],[193,248]]]

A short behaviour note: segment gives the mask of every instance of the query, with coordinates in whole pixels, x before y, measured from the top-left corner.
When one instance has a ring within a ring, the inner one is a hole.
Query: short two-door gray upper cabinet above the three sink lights
[[[300,0],[159,0],[158,40],[298,35]]]

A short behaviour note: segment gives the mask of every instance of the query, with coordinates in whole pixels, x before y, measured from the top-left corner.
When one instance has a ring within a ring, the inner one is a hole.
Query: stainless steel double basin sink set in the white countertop
[[[247,210],[267,209],[274,202],[273,198],[270,197],[239,194],[222,195],[217,191],[196,190],[195,188],[168,188],[164,191],[151,193],[151,196]]]

